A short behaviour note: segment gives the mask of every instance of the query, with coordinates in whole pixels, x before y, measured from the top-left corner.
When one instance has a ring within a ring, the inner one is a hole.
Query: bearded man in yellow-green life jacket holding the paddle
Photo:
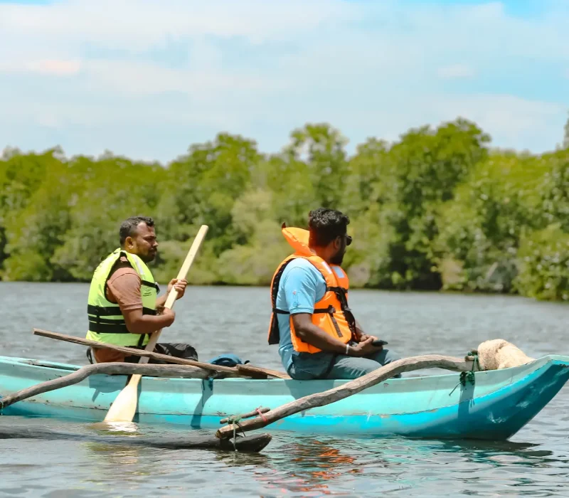
[[[154,221],[146,216],[125,220],[119,228],[120,247],[115,249],[97,266],[93,274],[87,302],[89,332],[92,341],[144,349],[152,332],[169,327],[175,318],[174,311],[164,308],[167,293],[158,295],[158,285],[147,266],[158,249]],[[184,296],[186,280],[171,280]],[[156,344],[154,351],[186,359],[198,359],[198,354],[188,344]],[[105,361],[139,361],[138,356],[111,349],[92,349],[90,353],[97,363]],[[151,363],[164,363],[151,360]]]

